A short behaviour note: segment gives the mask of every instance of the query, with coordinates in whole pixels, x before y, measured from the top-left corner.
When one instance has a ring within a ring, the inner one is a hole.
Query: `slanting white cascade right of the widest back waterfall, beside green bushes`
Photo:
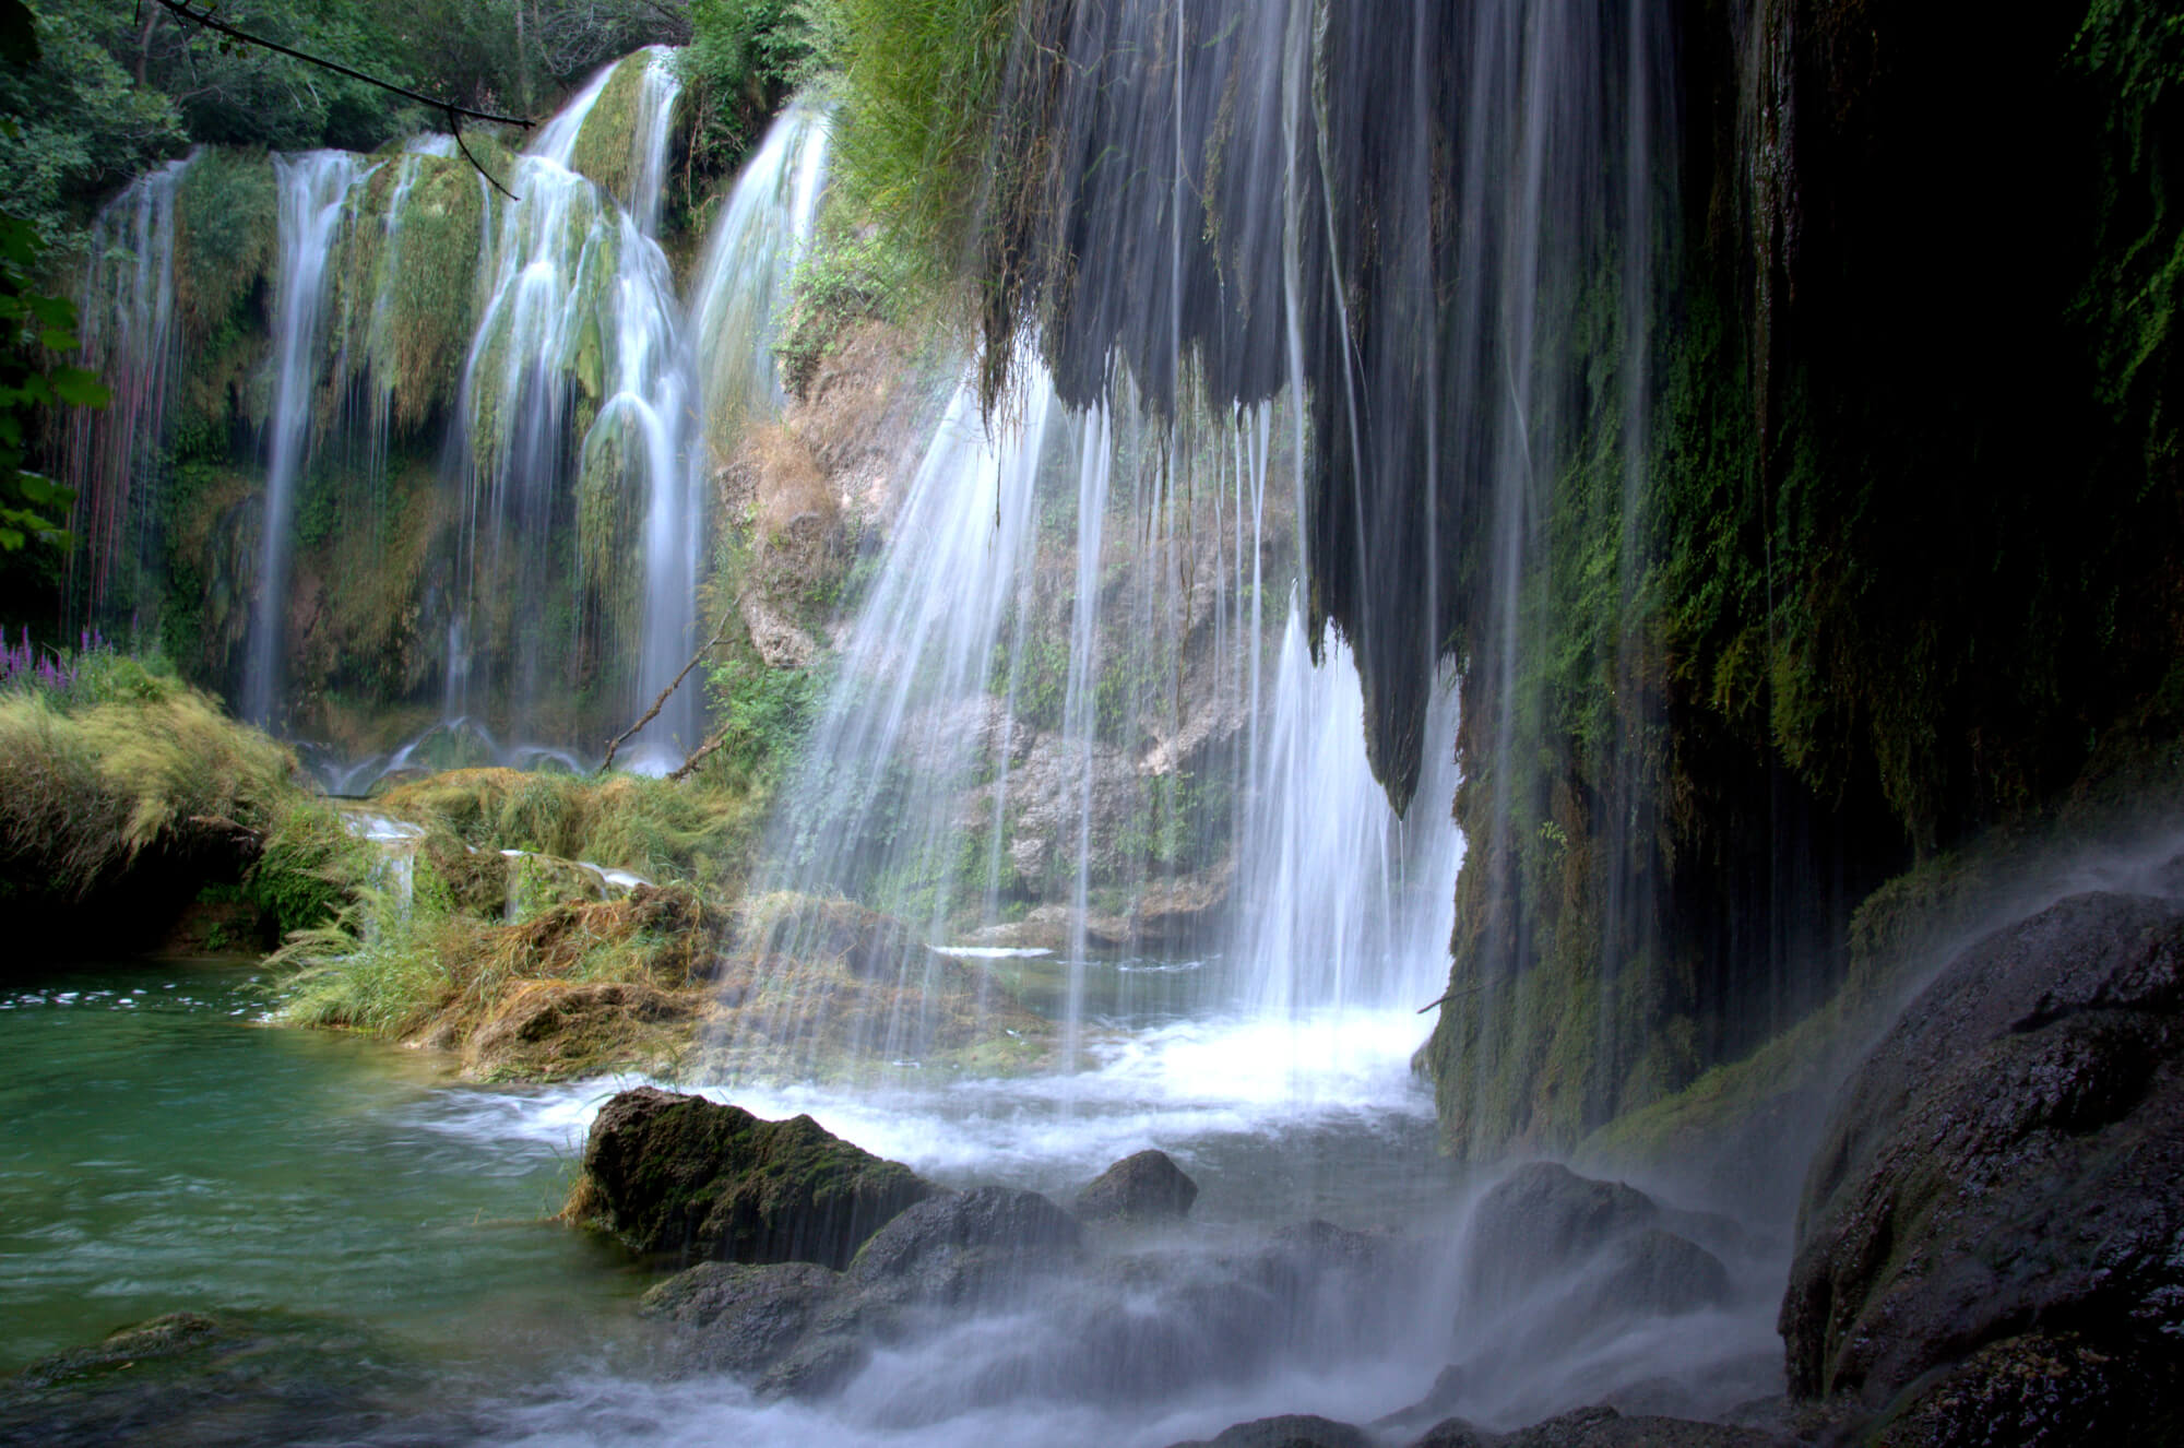
[[[699,417],[716,454],[727,454],[743,419],[782,406],[773,336],[795,260],[810,242],[826,190],[828,118],[793,100],[743,164],[727,194],[690,295],[697,341]]]

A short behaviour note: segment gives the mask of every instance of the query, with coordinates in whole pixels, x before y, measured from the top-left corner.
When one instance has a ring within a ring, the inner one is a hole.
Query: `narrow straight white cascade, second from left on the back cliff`
[[[365,164],[347,151],[306,151],[273,157],[273,175],[280,183],[273,413],[260,520],[258,605],[251,614],[251,644],[242,675],[242,716],[258,725],[275,723],[280,701],[288,559],[295,546],[290,524],[297,476],[310,452],[325,260],[343,225],[343,203],[349,188],[363,179]]]

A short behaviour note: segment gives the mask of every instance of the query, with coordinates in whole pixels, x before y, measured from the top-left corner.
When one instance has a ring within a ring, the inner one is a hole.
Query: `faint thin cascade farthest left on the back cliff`
[[[105,411],[70,413],[68,470],[76,489],[70,531],[72,614],[109,618],[116,596],[129,596],[149,557],[157,496],[146,483],[159,465],[166,406],[175,393],[175,190],[197,153],[129,183],[92,223],[92,264],[83,273],[76,317],[79,363],[107,378]]]

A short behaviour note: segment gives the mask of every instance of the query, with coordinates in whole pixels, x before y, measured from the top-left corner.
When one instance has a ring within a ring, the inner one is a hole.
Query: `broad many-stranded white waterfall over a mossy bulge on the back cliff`
[[[640,653],[638,692],[681,664],[695,579],[686,487],[690,367],[657,218],[675,81],[642,52],[636,129],[622,142],[640,188],[618,207],[574,170],[587,122],[618,68],[590,81],[515,159],[498,205],[485,306],[463,371],[470,485],[459,616],[446,697],[500,686],[511,736],[559,723],[548,710],[587,657]],[[629,61],[625,61],[627,66]],[[574,494],[574,496],[572,496]],[[574,548],[570,537],[574,535]],[[548,577],[581,577],[587,616],[539,618]],[[491,679],[494,655],[511,677]]]

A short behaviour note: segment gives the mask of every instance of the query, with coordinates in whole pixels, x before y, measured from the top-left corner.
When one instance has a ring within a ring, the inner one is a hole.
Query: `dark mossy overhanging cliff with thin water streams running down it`
[[[924,207],[996,395],[1031,325],[1079,400],[1171,397],[1177,345],[1304,384],[1313,605],[1398,802],[1463,681],[1422,1057],[1461,1153],[1745,1055],[1883,880],[2184,723],[2160,7],[1496,13],[1020,4],[946,100],[992,164]],[[845,111],[885,194],[858,127],[915,127]]]

